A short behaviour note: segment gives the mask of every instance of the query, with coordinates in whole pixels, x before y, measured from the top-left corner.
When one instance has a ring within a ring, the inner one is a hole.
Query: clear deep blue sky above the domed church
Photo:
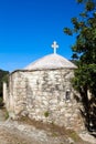
[[[0,69],[23,69],[32,61],[53,53],[71,59],[75,39],[63,33],[78,16],[75,0],[0,0]]]

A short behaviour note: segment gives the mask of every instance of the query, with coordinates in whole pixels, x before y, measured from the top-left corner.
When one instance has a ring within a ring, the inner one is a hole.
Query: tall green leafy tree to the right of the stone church
[[[77,3],[84,4],[84,11],[72,18],[73,29],[64,28],[64,32],[76,37],[72,58],[77,69],[72,83],[81,94],[86,127],[96,131],[96,1],[77,0]]]

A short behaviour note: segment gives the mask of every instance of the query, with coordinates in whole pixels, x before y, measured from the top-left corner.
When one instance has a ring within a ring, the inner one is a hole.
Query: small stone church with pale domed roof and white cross
[[[9,84],[3,83],[3,101],[11,117],[28,116],[44,123],[78,128],[82,126],[79,105],[74,99],[71,80],[74,65],[56,54],[32,62],[22,70],[10,73]]]

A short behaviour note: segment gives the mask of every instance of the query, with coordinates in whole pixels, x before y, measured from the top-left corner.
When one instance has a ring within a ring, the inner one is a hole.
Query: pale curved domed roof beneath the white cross
[[[46,56],[43,56],[42,59],[32,62],[31,64],[25,66],[24,70],[45,70],[62,68],[76,69],[76,65],[58,54],[49,54]]]

